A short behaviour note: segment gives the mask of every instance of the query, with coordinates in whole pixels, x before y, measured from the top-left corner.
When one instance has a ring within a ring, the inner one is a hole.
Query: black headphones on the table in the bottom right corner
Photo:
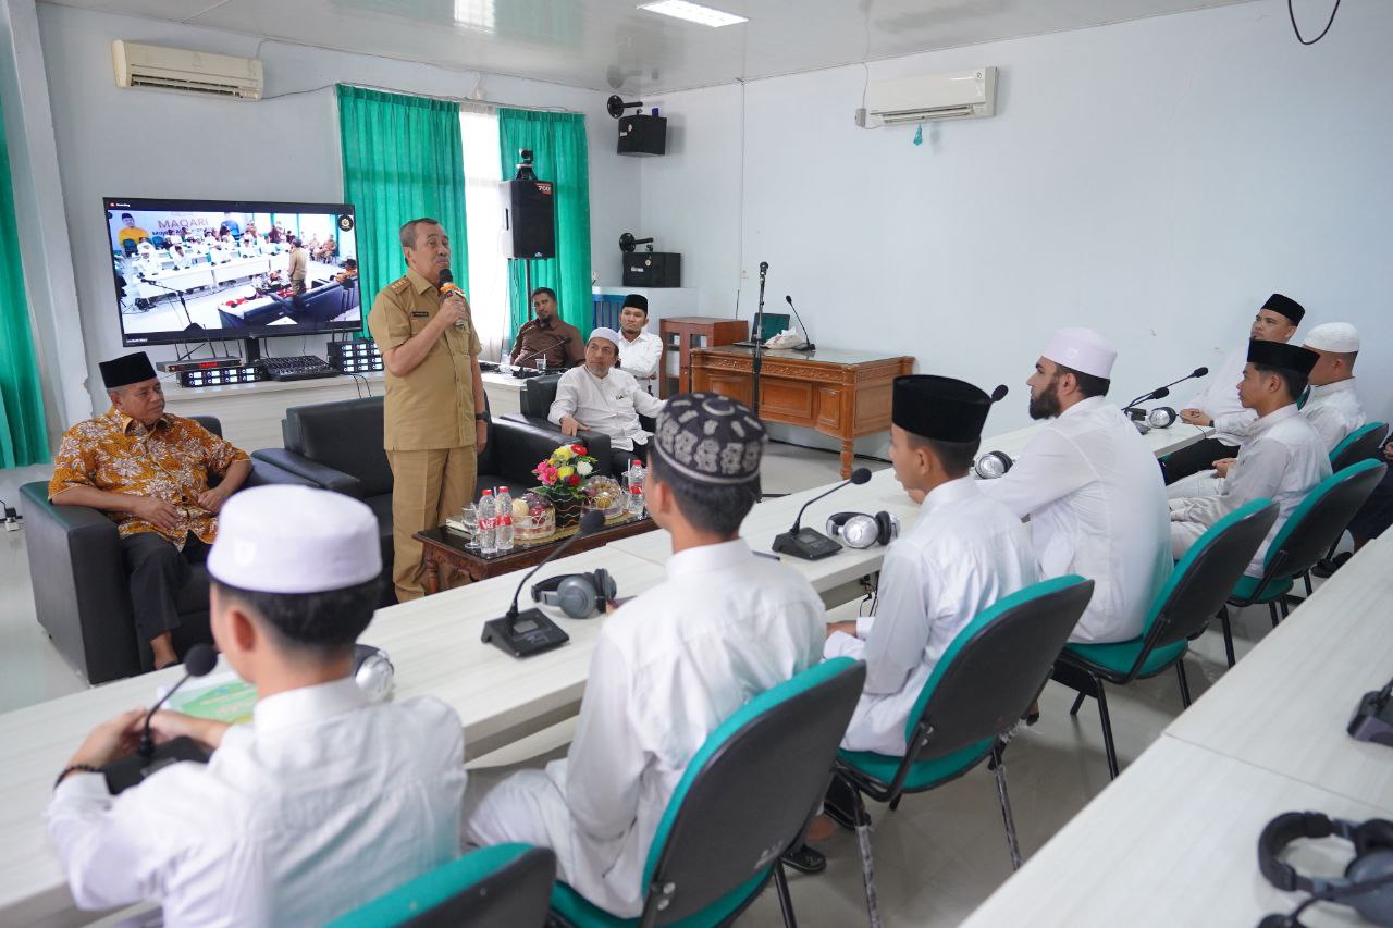
[[[1354,860],[1344,868],[1343,879],[1304,876],[1279,860],[1283,849],[1297,839],[1330,836],[1354,844]],[[1316,902],[1348,906],[1376,925],[1393,925],[1393,822],[1387,819],[1348,822],[1321,812],[1284,812],[1268,822],[1258,837],[1258,869],[1280,890],[1311,893],[1295,911],[1268,915],[1259,928],[1301,925],[1297,915]]]

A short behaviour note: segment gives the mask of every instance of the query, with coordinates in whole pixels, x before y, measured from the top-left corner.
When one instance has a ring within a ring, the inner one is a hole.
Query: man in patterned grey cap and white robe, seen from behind
[[[736,400],[669,400],[644,485],[671,532],[667,580],[605,619],[570,752],[483,794],[465,814],[469,844],[550,847],[559,879],[639,914],[649,844],[688,761],[752,697],[822,658],[822,599],[738,536],[763,444]]]

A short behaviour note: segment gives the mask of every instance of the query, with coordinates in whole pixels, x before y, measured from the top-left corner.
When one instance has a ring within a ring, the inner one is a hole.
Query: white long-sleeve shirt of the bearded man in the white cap
[[[1160,465],[1116,405],[1091,397],[1068,407],[1036,432],[1004,477],[981,488],[1029,517],[1042,580],[1078,574],[1094,581],[1070,641],[1141,634],[1174,562]]]

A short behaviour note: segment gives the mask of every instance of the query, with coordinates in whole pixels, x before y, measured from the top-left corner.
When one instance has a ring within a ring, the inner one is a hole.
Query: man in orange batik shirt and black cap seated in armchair
[[[189,564],[208,557],[217,511],[252,465],[198,422],[164,414],[164,392],[143,351],[100,368],[111,408],[63,433],[49,500],[91,506],[116,523],[135,630],[159,669],[178,662],[171,633]],[[215,474],[223,479],[209,489]]]

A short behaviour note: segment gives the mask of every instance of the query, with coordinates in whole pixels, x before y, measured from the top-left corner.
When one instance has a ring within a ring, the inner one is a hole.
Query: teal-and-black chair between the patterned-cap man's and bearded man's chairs
[[[866,911],[873,927],[880,924],[880,913],[871,867],[871,818],[862,794],[894,810],[905,793],[956,780],[990,758],[1011,867],[1020,868],[1002,752],[1011,729],[1049,681],[1050,665],[1092,595],[1092,580],[1056,577],[985,609],[953,638],[924,684],[904,726],[904,757],[837,752],[836,775],[853,787]]]

